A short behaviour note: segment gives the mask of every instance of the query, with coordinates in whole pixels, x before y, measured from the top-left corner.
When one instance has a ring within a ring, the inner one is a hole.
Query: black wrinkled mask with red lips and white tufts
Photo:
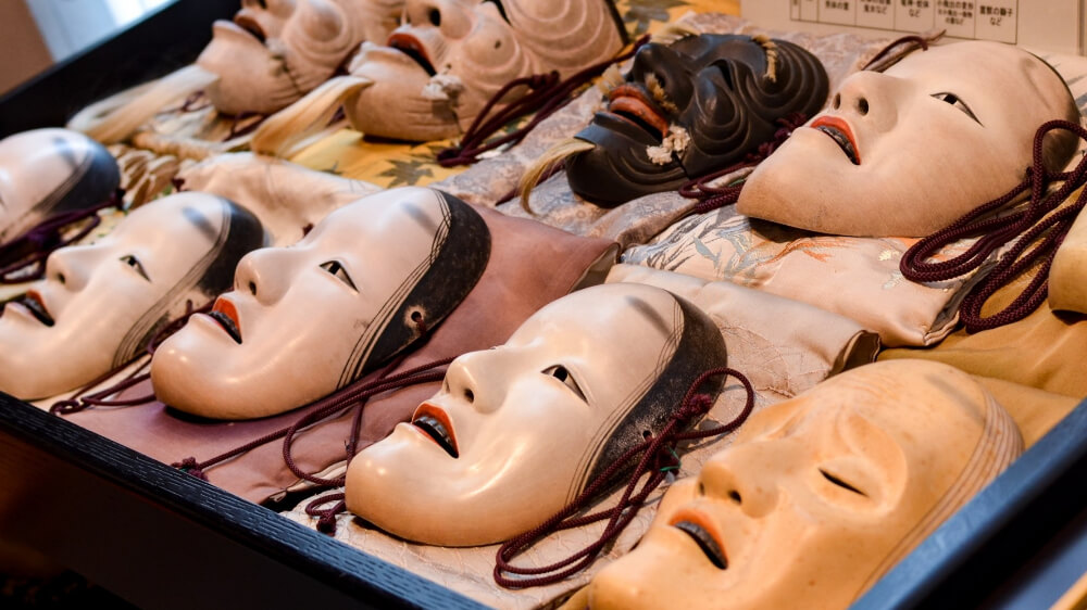
[[[813,115],[827,87],[819,60],[791,42],[703,34],[647,45],[575,136],[595,148],[566,161],[570,186],[601,205],[676,189],[773,140],[778,118]]]

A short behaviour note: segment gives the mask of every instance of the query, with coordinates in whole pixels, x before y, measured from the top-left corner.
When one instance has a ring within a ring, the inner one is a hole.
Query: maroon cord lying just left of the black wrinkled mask
[[[495,93],[490,100],[487,101],[487,105],[484,106],[483,111],[476,116],[475,120],[472,122],[472,126],[468,127],[468,130],[464,132],[461,143],[455,147],[445,149],[438,153],[438,164],[442,167],[471,165],[479,161],[479,155],[489,150],[497,149],[498,147],[507,143],[520,142],[545,118],[551,116],[555,111],[569,104],[573,100],[574,91],[599,76],[613,63],[623,62],[633,58],[638,49],[647,42],[649,42],[648,35],[635,42],[634,48],[626,53],[623,53],[614,59],[590,65],[589,67],[574,74],[566,80],[561,80],[559,73],[557,71],[551,71],[548,74],[534,74],[532,76],[516,78],[507,82],[505,86],[499,89],[498,93]],[[515,101],[507,104],[502,107],[502,110],[495,113],[493,116],[488,117],[495,106],[500,103],[500,101],[508,93],[510,93],[510,91],[517,87],[527,87],[528,91],[524,92]],[[536,112],[536,116],[534,116],[533,119],[529,120],[524,127],[515,129],[501,138],[486,142],[487,138],[498,132],[511,120],[525,116],[537,110],[538,112]]]

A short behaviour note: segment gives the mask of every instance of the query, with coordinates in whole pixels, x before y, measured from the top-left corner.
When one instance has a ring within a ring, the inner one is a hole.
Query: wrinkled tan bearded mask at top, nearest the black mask
[[[386,46],[363,45],[352,61],[372,82],[343,107],[368,136],[451,138],[507,82],[571,76],[619,52],[622,31],[610,0],[408,0]]]

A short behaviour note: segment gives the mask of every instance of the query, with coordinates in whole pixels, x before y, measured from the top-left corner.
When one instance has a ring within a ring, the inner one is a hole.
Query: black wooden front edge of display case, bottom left
[[[479,608],[0,393],[0,538],[153,608]]]

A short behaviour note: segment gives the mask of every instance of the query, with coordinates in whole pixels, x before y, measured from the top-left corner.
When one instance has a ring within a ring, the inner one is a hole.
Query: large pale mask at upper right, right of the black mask
[[[1019,185],[1035,131],[1051,119],[1078,123],[1079,112],[1033,54],[987,41],[917,51],[847,78],[829,109],[748,177],[736,209],[824,233],[923,237]],[[1047,136],[1051,170],[1074,140]]]

